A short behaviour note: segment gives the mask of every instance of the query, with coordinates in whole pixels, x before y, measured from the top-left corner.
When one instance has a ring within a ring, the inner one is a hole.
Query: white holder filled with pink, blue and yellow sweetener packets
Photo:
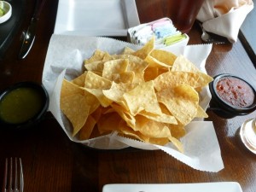
[[[189,42],[189,36],[177,31],[169,18],[161,18],[128,29],[127,39],[132,44],[146,44],[153,36],[156,49],[166,47],[185,47]]]

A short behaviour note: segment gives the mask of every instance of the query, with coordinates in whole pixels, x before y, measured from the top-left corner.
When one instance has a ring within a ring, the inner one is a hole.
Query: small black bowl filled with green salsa
[[[44,118],[49,95],[42,84],[20,82],[0,94],[0,125],[6,128],[29,128]]]

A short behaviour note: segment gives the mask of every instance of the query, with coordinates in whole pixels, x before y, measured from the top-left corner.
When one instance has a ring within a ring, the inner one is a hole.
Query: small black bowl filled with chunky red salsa
[[[252,113],[256,109],[256,92],[251,84],[231,74],[219,74],[209,84],[210,109],[224,119]]]

